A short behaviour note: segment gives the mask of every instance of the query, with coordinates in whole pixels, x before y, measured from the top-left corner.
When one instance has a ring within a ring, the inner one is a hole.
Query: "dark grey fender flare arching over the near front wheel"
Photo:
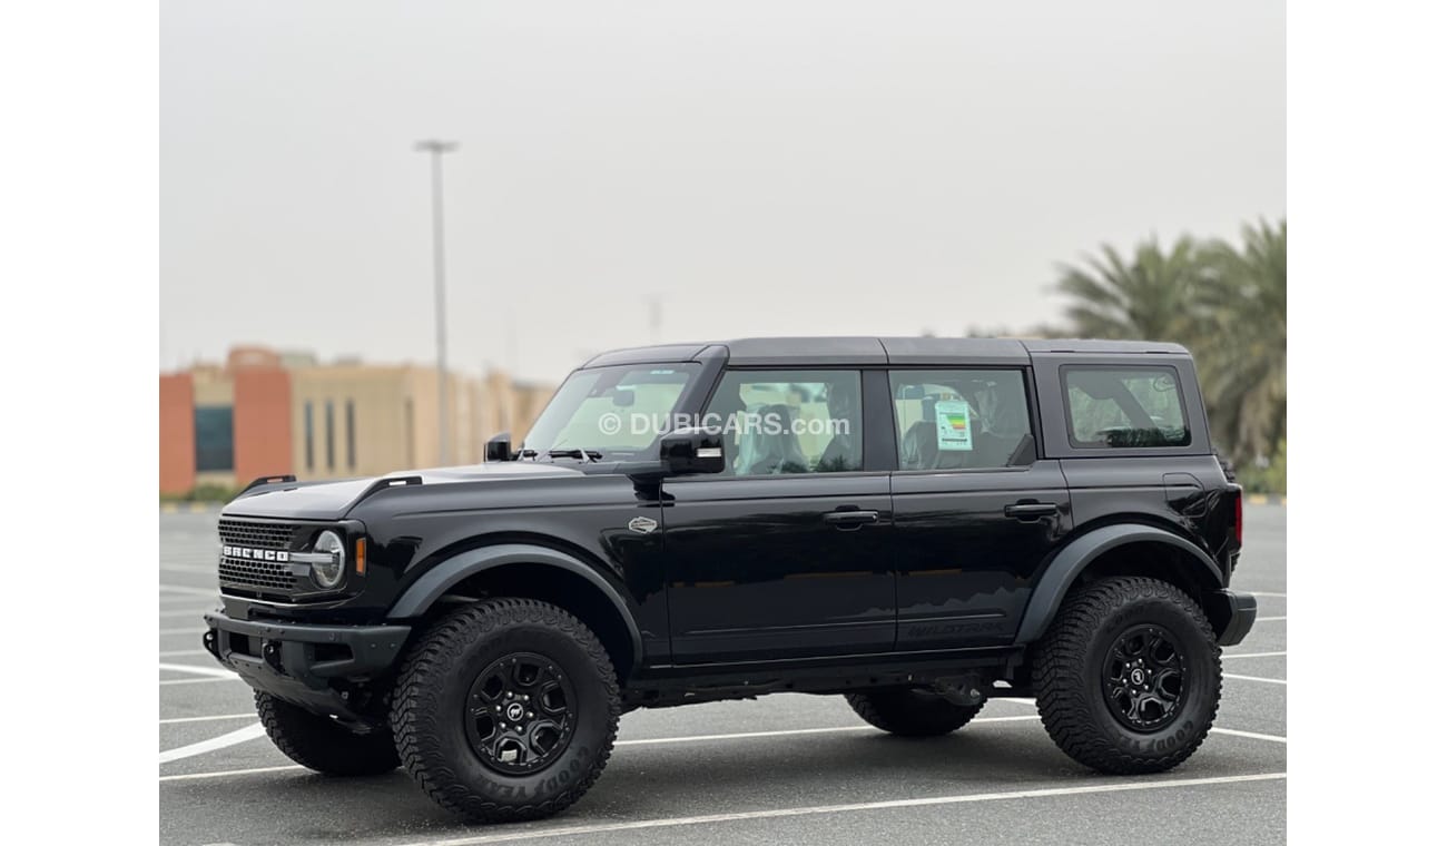
[[[392,610],[389,610],[386,616],[391,620],[421,616],[433,606],[434,602],[437,602],[437,599],[451,590],[462,580],[505,564],[554,567],[557,570],[566,570],[573,576],[583,577],[589,584],[596,587],[609,603],[612,603],[614,610],[618,612],[624,626],[628,628],[632,658],[637,661],[642,657],[642,635],[638,632],[638,622],[634,620],[632,613],[628,610],[628,603],[624,600],[622,594],[618,593],[618,589],[603,578],[598,570],[589,567],[573,555],[534,544],[496,544],[492,547],[479,547],[476,550],[459,552],[451,558],[438,563],[436,567],[424,573],[421,578],[414,581],[412,586],[402,593],[396,603],[392,604]]]

